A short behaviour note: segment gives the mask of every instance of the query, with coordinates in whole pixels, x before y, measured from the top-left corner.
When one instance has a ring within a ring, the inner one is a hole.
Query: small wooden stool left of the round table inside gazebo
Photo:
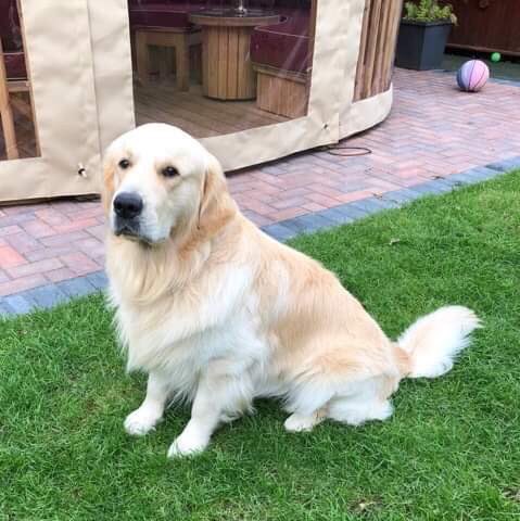
[[[180,91],[190,90],[190,47],[201,43],[200,30],[175,28],[140,28],[136,30],[136,65],[139,81],[145,85],[150,81],[150,49],[149,46],[173,49],[175,52],[176,81]],[[168,56],[169,53],[166,53]],[[162,56],[160,75],[169,68],[168,60]]]

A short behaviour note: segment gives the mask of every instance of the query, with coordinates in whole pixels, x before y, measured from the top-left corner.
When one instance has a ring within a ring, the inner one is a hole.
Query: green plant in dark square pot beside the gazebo
[[[395,65],[415,71],[440,68],[452,26],[457,17],[437,0],[406,2],[401,21]]]

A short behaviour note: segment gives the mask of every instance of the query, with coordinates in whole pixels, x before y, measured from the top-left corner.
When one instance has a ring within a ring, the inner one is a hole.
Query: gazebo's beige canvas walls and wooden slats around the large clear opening
[[[10,102],[25,96],[34,145],[25,157],[7,160],[0,152],[0,201],[98,193],[103,150],[136,125],[127,0],[0,0],[0,28],[14,23],[13,2],[26,77],[16,84],[24,92],[7,77],[3,141],[10,110],[18,131],[17,105]],[[392,105],[401,8],[398,0],[313,0],[305,114],[203,143],[229,170],[334,143],[383,120]]]

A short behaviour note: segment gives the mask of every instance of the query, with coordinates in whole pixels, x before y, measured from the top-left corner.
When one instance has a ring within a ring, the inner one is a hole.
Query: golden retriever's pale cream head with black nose
[[[200,218],[217,160],[182,130],[164,124],[117,138],[104,158],[103,200],[111,231],[158,244]]]

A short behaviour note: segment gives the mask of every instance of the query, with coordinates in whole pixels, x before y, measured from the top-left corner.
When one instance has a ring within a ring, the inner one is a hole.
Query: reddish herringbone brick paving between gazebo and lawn
[[[390,118],[345,142],[372,154],[314,151],[232,174],[231,192],[244,213],[268,228],[306,214],[313,217],[302,223],[340,221],[334,215],[344,214],[344,203],[368,199],[365,207],[377,206],[375,194],[520,155],[518,86],[491,82],[468,94],[455,89],[453,75],[406,71],[396,71],[394,85]],[[0,297],[11,295],[11,308],[17,302],[20,310],[26,302],[12,295],[26,290],[60,284],[63,294],[80,294],[102,285],[103,234],[99,202],[0,207]],[[41,298],[46,304],[45,291]]]

